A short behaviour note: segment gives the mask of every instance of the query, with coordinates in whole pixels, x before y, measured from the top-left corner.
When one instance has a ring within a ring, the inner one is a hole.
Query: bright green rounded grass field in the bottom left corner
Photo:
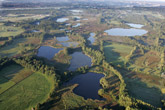
[[[0,95],[0,107],[2,110],[31,109],[46,101],[52,85],[44,74],[33,73]]]

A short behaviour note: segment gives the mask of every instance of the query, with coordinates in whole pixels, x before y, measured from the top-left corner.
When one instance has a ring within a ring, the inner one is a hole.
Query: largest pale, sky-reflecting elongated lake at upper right
[[[111,36],[142,36],[146,34],[148,31],[143,29],[124,29],[124,28],[113,28],[104,31]]]

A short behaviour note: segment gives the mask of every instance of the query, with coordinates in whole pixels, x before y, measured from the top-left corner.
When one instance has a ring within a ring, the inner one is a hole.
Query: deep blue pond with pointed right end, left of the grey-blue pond
[[[38,49],[37,56],[44,57],[44,58],[47,58],[48,60],[51,60],[55,56],[55,54],[58,53],[62,49],[63,48],[53,48],[50,46],[41,46]]]

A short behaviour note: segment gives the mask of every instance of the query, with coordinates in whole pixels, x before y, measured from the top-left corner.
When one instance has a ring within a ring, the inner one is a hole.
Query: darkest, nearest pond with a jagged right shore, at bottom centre
[[[102,77],[104,77],[103,74],[89,72],[74,77],[67,84],[79,84],[73,92],[84,97],[84,99],[104,100],[104,98],[98,95],[98,90],[102,88],[100,86],[100,79]]]

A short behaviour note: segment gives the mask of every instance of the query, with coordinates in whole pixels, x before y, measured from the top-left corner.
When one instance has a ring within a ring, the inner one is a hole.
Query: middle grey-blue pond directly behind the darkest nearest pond
[[[68,70],[75,71],[77,68],[82,66],[91,66],[92,61],[91,58],[84,55],[82,52],[74,52],[72,55],[71,64]]]

